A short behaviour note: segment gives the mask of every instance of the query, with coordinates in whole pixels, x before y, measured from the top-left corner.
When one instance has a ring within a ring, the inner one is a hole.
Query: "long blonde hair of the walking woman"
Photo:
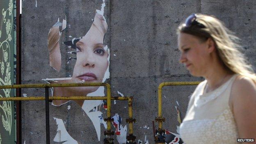
[[[202,41],[206,41],[208,38],[213,39],[217,54],[226,68],[233,73],[249,77],[256,82],[256,75],[252,66],[238,50],[242,48],[239,44],[240,39],[234,36],[233,32],[226,28],[222,21],[213,16],[197,14],[196,21],[203,24],[205,28],[201,28],[198,25],[186,27],[181,24],[177,33],[191,34]]]

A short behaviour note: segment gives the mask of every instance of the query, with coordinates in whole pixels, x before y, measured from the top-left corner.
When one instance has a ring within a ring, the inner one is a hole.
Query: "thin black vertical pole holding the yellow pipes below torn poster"
[[[45,97],[46,97],[46,144],[50,144],[49,87],[45,87]]]

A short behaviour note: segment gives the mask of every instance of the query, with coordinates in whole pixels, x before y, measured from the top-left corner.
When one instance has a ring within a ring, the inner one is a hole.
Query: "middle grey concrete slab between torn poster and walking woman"
[[[134,96],[133,112],[137,119],[134,132],[137,140],[144,142],[147,136],[150,143],[154,142],[152,121],[158,116],[157,90],[161,82],[201,80],[190,77],[183,65],[178,63],[180,53],[176,43],[176,28],[185,16],[197,11],[197,0],[110,1],[112,93],[117,95],[120,91]],[[179,125],[174,107],[176,100],[184,117],[188,96],[193,89],[194,86],[165,88],[164,128],[176,133],[176,126]],[[121,105],[114,105],[112,111],[119,112]]]

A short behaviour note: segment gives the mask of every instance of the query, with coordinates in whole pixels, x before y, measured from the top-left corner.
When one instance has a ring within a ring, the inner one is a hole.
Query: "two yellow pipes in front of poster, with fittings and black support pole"
[[[91,86],[105,86],[107,87],[107,96],[53,96],[49,97],[49,88],[50,87],[91,87]],[[111,100],[120,100],[120,101],[128,101],[128,113],[129,119],[126,121],[129,123],[129,135],[126,137],[127,140],[132,144],[135,142],[135,136],[133,136],[133,112],[132,112],[132,96],[125,97],[111,97],[110,85],[107,83],[68,83],[68,84],[30,84],[30,85],[4,85],[0,86],[0,89],[13,89],[13,88],[37,88],[42,87],[45,88],[46,93],[45,97],[36,96],[36,97],[8,97],[8,98],[0,98],[0,101],[46,101],[46,144],[50,144],[50,132],[49,132],[49,100],[107,100],[107,131],[104,132],[104,135],[109,135],[104,139],[105,144],[112,144],[113,139],[111,135],[114,135],[114,132],[111,131]]]

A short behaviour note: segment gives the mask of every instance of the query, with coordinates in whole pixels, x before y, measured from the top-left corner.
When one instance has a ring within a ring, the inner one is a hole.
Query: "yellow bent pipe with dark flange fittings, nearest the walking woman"
[[[177,86],[177,85],[198,85],[200,82],[162,82],[158,86],[158,117],[155,118],[155,121],[158,121],[158,129],[155,130],[155,143],[156,144],[165,144],[164,133],[165,129],[162,128],[162,122],[165,121],[165,118],[162,117],[162,88],[164,86]]]

